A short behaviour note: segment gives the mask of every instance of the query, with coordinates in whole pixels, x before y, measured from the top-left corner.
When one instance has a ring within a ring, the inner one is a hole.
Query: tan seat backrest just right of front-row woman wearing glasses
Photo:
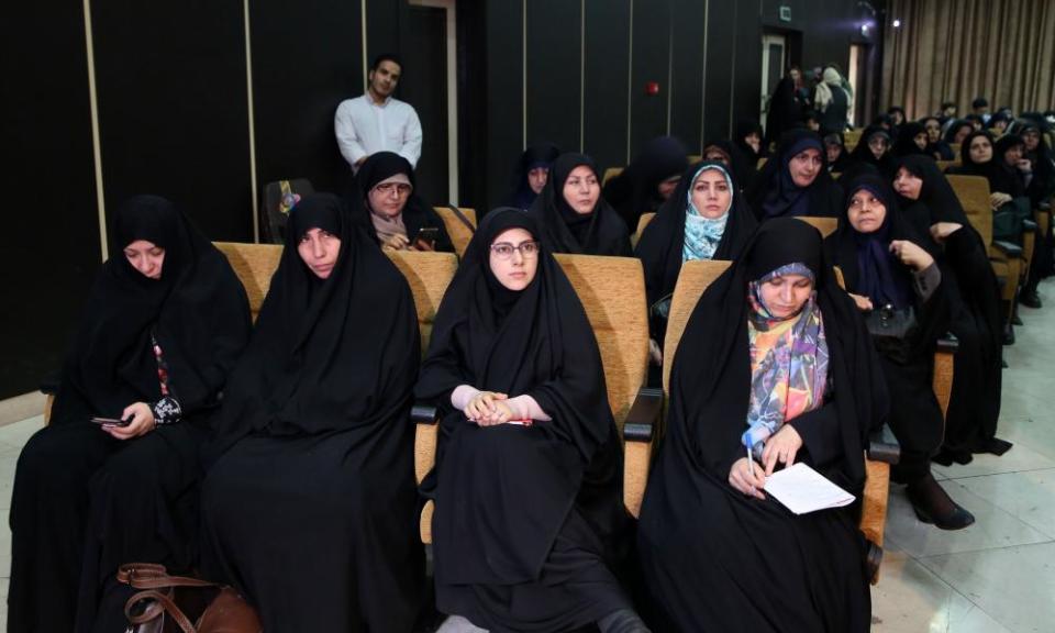
[[[593,327],[604,365],[608,402],[622,430],[648,371],[648,319],[641,260],[599,255],[554,257],[575,287]]]

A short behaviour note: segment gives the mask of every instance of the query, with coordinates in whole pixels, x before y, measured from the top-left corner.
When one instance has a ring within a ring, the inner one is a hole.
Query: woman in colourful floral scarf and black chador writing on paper
[[[762,491],[803,462],[859,497],[866,438],[886,414],[879,362],[820,233],[763,224],[678,349],[638,526],[660,630],[868,631],[854,512],[796,515]]]

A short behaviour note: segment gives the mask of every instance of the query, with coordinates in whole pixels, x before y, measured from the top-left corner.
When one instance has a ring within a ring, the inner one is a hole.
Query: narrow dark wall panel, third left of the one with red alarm
[[[487,3],[488,200],[506,199],[510,174],[524,149],[522,0]]]

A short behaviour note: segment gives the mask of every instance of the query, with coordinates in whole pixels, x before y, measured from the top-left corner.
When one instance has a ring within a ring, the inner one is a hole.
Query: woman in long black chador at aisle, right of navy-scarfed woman
[[[901,160],[893,182],[903,218],[920,235],[944,245],[948,269],[949,331],[959,341],[945,438],[934,460],[966,464],[971,453],[1003,455],[1011,443],[997,437],[1002,393],[1003,319],[1000,286],[981,236],[971,227],[952,185],[928,156]]]

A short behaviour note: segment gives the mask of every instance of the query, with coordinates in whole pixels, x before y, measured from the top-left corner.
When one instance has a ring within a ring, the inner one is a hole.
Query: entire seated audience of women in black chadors
[[[837,104],[837,75],[824,81]],[[1000,285],[1039,308],[1052,274],[1052,124],[891,109],[848,147],[802,122],[771,152],[755,122],[692,158],[658,138],[608,184],[589,156],[529,147],[426,349],[386,252],[455,246],[398,154],[366,158],[347,200],[293,207],[255,324],[175,204],[127,200],[49,424],[19,459],[9,631],[124,631],[131,562],[233,586],[269,632],[409,633],[436,611],[447,632],[867,631],[860,503],[798,515],[766,480],[804,463],[859,499],[888,425],[919,520],[974,522],[931,462],[1011,448]],[[998,278],[946,173],[985,177],[993,238],[1033,237],[1021,279]],[[681,335],[636,522],[598,342],[556,254],[641,260],[654,387],[682,267],[731,262]],[[415,402],[440,420],[420,486]]]

